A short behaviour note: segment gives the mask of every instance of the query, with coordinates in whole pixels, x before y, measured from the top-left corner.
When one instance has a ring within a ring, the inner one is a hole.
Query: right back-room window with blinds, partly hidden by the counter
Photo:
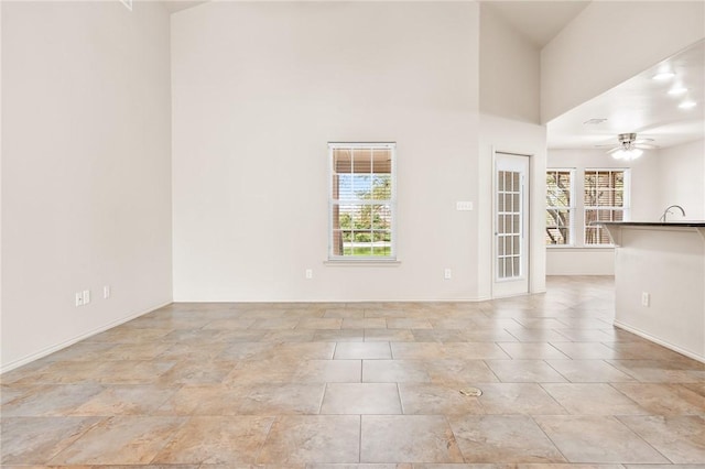
[[[629,219],[629,171],[585,170],[585,246],[610,246],[607,230],[594,221]]]

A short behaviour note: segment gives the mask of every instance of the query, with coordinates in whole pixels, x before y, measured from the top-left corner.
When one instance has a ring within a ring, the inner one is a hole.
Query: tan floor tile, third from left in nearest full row
[[[273,417],[193,417],[154,457],[155,463],[254,463]]]

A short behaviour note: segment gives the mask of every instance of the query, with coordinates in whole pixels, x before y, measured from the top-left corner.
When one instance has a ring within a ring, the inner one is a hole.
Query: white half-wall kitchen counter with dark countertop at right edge
[[[705,362],[705,222],[612,221],[615,326]]]

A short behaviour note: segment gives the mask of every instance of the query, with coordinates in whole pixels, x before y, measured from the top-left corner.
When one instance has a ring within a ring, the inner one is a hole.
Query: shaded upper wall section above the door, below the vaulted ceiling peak
[[[540,123],[540,50],[480,4],[480,111]]]

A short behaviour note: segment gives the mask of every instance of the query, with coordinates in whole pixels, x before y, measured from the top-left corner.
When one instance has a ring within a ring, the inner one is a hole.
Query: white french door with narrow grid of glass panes
[[[495,153],[492,296],[529,293],[529,156]]]

